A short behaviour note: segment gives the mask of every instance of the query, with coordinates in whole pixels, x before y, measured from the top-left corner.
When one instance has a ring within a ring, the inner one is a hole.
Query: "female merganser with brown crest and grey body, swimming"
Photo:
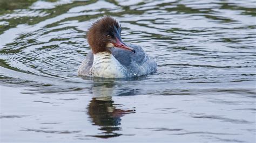
[[[121,25],[110,16],[92,24],[87,32],[87,41],[91,52],[80,65],[78,75],[123,78],[141,76],[157,70],[156,61],[140,46],[124,44],[121,39]]]

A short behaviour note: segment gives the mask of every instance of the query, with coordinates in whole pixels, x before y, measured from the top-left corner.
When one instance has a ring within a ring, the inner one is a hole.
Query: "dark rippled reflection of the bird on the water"
[[[94,84],[92,87],[95,97],[90,101],[87,112],[93,125],[99,126],[99,130],[103,131],[98,135],[90,135],[92,137],[111,138],[122,135],[116,132],[122,130],[120,127],[121,117],[128,113],[135,113],[134,109],[118,109],[118,106],[122,105],[114,104],[112,95],[116,95],[114,94],[116,91],[114,91],[113,87],[114,85],[112,84]]]

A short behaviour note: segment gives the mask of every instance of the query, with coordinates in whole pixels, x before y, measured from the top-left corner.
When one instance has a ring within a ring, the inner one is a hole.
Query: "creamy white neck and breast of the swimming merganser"
[[[111,53],[98,52],[93,54],[91,73],[97,77],[122,78],[125,77],[126,69]]]

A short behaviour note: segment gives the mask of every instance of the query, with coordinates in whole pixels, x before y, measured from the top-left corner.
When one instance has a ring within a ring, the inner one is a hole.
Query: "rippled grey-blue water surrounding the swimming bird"
[[[255,1],[0,1],[1,142],[255,142]],[[157,73],[77,76],[99,17]]]

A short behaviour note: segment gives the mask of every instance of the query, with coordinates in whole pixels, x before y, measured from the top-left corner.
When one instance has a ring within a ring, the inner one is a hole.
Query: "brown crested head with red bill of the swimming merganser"
[[[121,25],[116,19],[105,16],[98,19],[87,31],[87,41],[92,53],[110,52],[110,47],[117,47],[135,52],[128,47],[121,39]]]

